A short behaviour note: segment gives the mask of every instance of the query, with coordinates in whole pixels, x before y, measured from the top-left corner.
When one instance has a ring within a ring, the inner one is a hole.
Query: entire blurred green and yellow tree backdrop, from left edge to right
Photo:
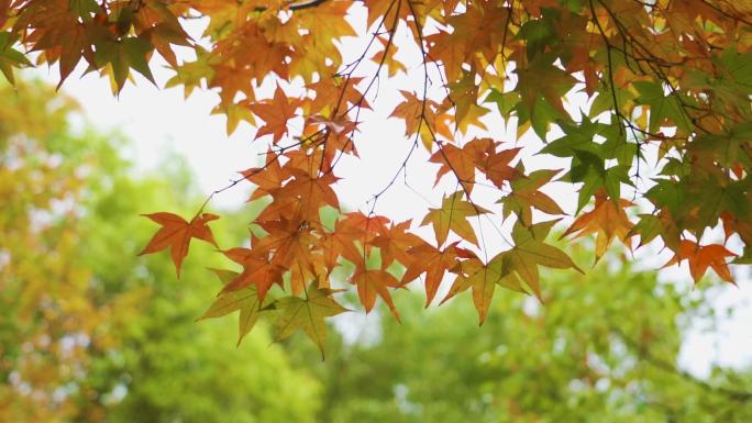
[[[677,367],[693,322],[720,319],[708,290],[608,256],[586,277],[543,275],[543,304],[499,296],[483,330],[468,301],[425,313],[408,294],[401,325],[384,307],[365,325],[339,318],[323,363],[264,324],[235,348],[230,320],[192,322],[220,287],[195,265],[217,259],[210,246],[179,282],[167,260],[135,256],[152,231],[139,213],[196,198],[179,158],[134,178],[125,140],[16,85],[0,89],[1,422],[752,421],[751,372]],[[225,222],[218,238],[237,241]]]

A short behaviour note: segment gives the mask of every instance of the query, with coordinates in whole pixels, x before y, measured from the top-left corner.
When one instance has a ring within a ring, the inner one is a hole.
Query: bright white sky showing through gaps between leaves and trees
[[[363,45],[362,41],[351,41],[353,46],[350,49],[360,53],[357,45]],[[386,119],[391,107],[401,101],[398,88],[419,90],[421,86],[422,70],[417,66],[418,52],[408,51],[402,58],[412,64],[408,66],[411,77],[400,78],[397,82],[383,78],[377,101],[369,99],[377,112],[363,115],[367,119],[362,119],[362,135],[356,137],[356,147],[361,156],[367,159],[343,160],[338,165],[336,175],[345,179],[338,183],[335,189],[342,203],[350,209],[357,208],[364,212],[371,210],[371,204],[366,202],[391,179],[411,144],[411,141],[402,136],[402,125]],[[172,76],[170,71],[163,68],[153,70],[157,84],[164,87],[164,82]],[[53,84],[57,82],[56,69],[42,67],[34,74]],[[137,85],[126,84],[119,98],[112,96],[109,81],[96,75],[78,79],[74,74],[65,82],[63,90],[81,103],[88,121],[95,126],[117,130],[133,141],[137,169],[155,168],[164,157],[165,151],[178,152],[195,172],[196,182],[208,194],[224,187],[230,179],[236,178],[236,171],[259,165],[263,157],[258,154],[265,151],[265,140],[254,143],[254,130],[244,123],[241,123],[233,135],[228,136],[224,118],[210,115],[217,102],[214,93],[195,90],[187,100],[184,100],[181,87],[159,89],[140,76],[135,79]],[[512,132],[509,133],[500,120],[489,120],[489,129],[498,140],[513,140],[515,129],[510,129]],[[534,148],[530,152],[534,152]],[[453,192],[454,185],[450,182],[450,177],[445,178],[447,185],[440,185],[436,190],[431,188],[438,166],[425,165],[427,157],[421,151],[411,160],[408,181],[414,191],[401,182],[400,176],[398,182],[379,199],[375,212],[397,221],[409,218],[418,220],[425,213],[427,207],[436,207],[440,203],[442,189]],[[551,160],[545,157],[530,160],[526,158],[526,165],[530,167],[530,164],[537,162],[533,166],[562,166],[561,163]],[[564,207],[567,212],[574,212],[574,191],[567,185],[559,186],[556,192],[548,192],[562,201],[561,203],[568,204]],[[212,204],[241,205],[247,192],[247,186],[239,186],[218,196]],[[165,204],[164,210],[169,210],[169,204]],[[496,210],[498,211],[498,208]],[[413,222],[413,225],[416,223],[420,222]],[[498,252],[504,248],[505,243],[500,236],[496,235],[488,223],[482,224],[484,232],[490,235],[486,236],[488,249]],[[432,238],[430,232],[422,234]],[[645,267],[660,267],[668,259],[668,256],[656,258],[649,257],[651,253],[644,254],[645,257],[641,258]],[[686,265],[681,270],[674,267],[662,272],[664,278],[676,279],[676,283],[692,283],[687,278]],[[722,366],[752,364],[752,309],[749,307],[752,300],[752,285],[749,274],[737,275],[737,278],[740,288],[722,286],[720,296],[714,303],[714,308],[719,312],[729,307],[733,308],[734,318],[722,322],[718,330],[708,333],[703,333],[701,327],[698,327],[685,342],[681,365],[698,376],[707,375],[714,361]]]

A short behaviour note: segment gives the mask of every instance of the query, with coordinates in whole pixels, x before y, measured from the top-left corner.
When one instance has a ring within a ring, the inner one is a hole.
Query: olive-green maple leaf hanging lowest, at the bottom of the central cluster
[[[306,289],[306,298],[283,297],[270,303],[266,310],[278,310],[281,315],[275,323],[275,341],[281,341],[302,330],[321,350],[324,358],[327,342],[327,324],[324,318],[331,318],[349,311],[334,301],[331,296],[342,290],[318,288],[311,283]]]

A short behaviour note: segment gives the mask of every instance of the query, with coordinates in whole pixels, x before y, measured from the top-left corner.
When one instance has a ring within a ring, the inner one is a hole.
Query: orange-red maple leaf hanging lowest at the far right
[[[716,270],[721,280],[736,285],[729,265],[726,263],[726,257],[736,256],[720,244],[699,245],[694,241],[682,240],[678,251],[674,252],[674,257],[663,267],[681,264],[686,259],[689,261],[689,272],[695,283],[703,279],[710,267]]]

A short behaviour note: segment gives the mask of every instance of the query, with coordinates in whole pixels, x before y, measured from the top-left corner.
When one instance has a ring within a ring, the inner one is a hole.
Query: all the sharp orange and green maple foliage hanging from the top
[[[200,40],[184,27],[193,19],[208,24]],[[215,91],[229,131],[246,121],[268,143],[265,164],[231,185],[248,181],[268,205],[250,246],[221,246],[240,267],[218,271],[225,286],[204,318],[240,310],[242,337],[268,315],[278,338],[301,330],[322,346],[324,319],[345,311],[331,285],[345,261],[366,312],[380,299],[399,319],[396,290],[422,279],[428,304],[446,280],[443,301],[471,291],[480,323],[497,288],[540,297],[539,267],[579,270],[550,241],[566,214],[545,193],[555,181],[578,189],[564,237],[595,234],[596,259],[615,240],[656,242],[696,281],[711,268],[732,282],[729,260],[752,260],[751,22],[751,2],[726,0],[2,0],[0,70],[12,80],[15,67],[57,64],[62,84],[82,65],[119,92],[132,71],[153,80],[159,55],[167,86]],[[353,37],[365,47],[345,62]],[[193,59],[178,58],[184,47]],[[408,69],[411,51],[421,64]],[[403,73],[421,84],[386,113],[409,149],[373,204],[420,149],[456,188],[411,221],[347,212],[336,165],[358,155],[379,78]],[[495,114],[516,140],[497,138]],[[568,169],[528,169],[531,154]],[[478,185],[500,208],[479,204]],[[147,215],[161,229],[143,253],[169,249],[179,274],[192,238],[214,244],[209,200],[192,218]],[[488,251],[484,233],[508,248]]]

